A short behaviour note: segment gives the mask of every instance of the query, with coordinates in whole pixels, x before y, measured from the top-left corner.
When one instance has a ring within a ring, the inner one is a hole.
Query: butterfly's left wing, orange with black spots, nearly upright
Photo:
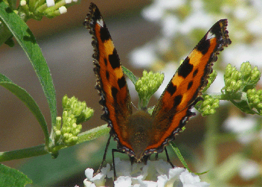
[[[101,118],[111,127],[111,135],[123,142],[122,139],[127,134],[126,121],[132,114],[130,93],[106,24],[94,3],[90,4],[89,9],[84,25],[93,36],[96,89],[101,96],[99,103],[104,110]]]

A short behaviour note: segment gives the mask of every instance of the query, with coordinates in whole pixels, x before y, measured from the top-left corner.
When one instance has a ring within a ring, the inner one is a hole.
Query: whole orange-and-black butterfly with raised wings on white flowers
[[[174,140],[189,118],[195,115],[191,109],[201,99],[201,91],[207,84],[217,54],[231,44],[226,30],[227,19],[216,22],[190,52],[150,115],[146,109],[132,111],[126,78],[109,31],[97,6],[91,3],[89,9],[84,25],[93,36],[96,89],[104,111],[101,118],[111,128],[102,164],[111,137],[118,142],[118,149],[112,149],[113,167],[115,151],[127,153],[131,162],[146,163],[152,153],[166,151],[168,142]],[[167,159],[174,167],[168,155]],[[116,177],[115,167],[114,174]]]

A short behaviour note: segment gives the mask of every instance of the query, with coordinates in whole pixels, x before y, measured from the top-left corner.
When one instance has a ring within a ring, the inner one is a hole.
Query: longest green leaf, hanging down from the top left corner
[[[34,35],[25,22],[3,1],[0,1],[0,18],[11,31],[19,45],[23,48],[34,67],[42,85],[42,89],[47,97],[52,125],[55,125],[57,117],[56,92],[46,60]]]

